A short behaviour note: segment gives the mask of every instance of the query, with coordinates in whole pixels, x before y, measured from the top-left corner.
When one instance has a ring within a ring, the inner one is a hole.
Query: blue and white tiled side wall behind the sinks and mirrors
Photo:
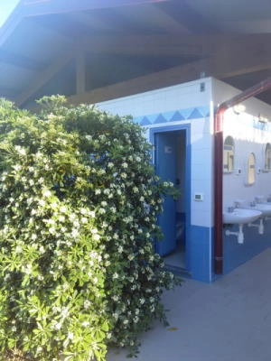
[[[212,79],[211,88],[214,104],[239,93],[236,88],[216,79]],[[233,206],[236,200],[246,207],[256,196],[271,193],[271,172],[265,171],[265,149],[266,143],[271,143],[271,124],[258,121],[259,116],[271,120],[271,106],[257,98],[250,98],[243,105],[246,106],[244,112],[237,114],[230,108],[224,116],[224,139],[231,136],[234,140],[234,171],[223,175],[224,209]],[[247,181],[249,153],[256,157],[256,180],[251,185]],[[224,273],[271,245],[271,220],[265,222],[264,235],[259,235],[257,228],[248,226],[244,226],[244,234],[244,244],[238,245],[236,236],[224,233]]]

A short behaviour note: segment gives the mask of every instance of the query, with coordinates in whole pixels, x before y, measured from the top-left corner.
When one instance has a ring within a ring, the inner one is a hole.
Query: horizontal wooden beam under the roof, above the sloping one
[[[98,35],[80,38],[79,47],[95,53],[123,55],[207,56],[219,51],[225,54],[263,52],[271,42],[268,34],[223,35]]]

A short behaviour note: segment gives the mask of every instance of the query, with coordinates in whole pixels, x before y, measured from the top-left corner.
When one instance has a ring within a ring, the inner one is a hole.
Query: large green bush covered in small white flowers
[[[153,239],[170,183],[141,127],[44,97],[33,116],[0,103],[0,359],[105,360],[137,348],[179,283]]]

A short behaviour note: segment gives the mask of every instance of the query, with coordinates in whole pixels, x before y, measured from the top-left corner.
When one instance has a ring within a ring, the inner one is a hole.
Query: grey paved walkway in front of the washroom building
[[[142,336],[136,361],[270,361],[271,249],[205,284],[186,280],[164,293],[170,327]],[[110,350],[108,361],[127,361]]]

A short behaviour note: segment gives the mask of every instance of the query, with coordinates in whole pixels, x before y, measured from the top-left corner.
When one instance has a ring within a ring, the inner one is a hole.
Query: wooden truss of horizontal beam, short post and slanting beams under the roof
[[[47,83],[75,54],[78,63],[84,64],[83,52],[119,52],[122,54],[198,56],[198,60],[189,64],[166,69],[159,72],[120,82],[106,88],[85,93],[93,98],[93,102],[112,97],[123,97],[154,88],[163,88],[182,82],[199,79],[201,73],[218,79],[246,74],[271,67],[271,49],[266,47],[270,34],[264,35],[216,35],[216,36],[138,36],[138,37],[98,37],[82,40],[79,45],[70,49],[55,60],[51,66],[39,73],[33,83],[17,97],[16,103],[21,106]],[[132,44],[132,45],[131,45]],[[77,92],[84,93],[85,81],[83,70],[77,67]],[[113,89],[113,90],[112,90]],[[85,97],[85,96],[84,96]],[[92,100],[91,100],[92,101]]]

